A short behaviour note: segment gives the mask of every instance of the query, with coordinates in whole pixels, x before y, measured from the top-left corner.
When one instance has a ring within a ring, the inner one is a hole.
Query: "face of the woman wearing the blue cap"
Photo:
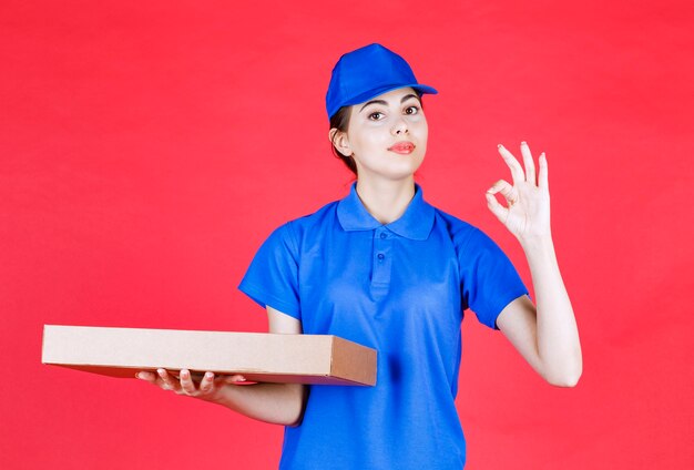
[[[419,96],[411,88],[404,88],[351,106],[340,143],[351,151],[359,180],[402,180],[421,165],[428,134]]]

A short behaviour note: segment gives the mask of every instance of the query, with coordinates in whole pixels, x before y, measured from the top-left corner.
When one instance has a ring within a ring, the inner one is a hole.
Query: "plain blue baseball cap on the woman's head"
[[[328,117],[343,106],[364,103],[379,94],[410,86],[420,93],[438,93],[417,82],[409,64],[380,44],[369,44],[339,58],[325,98]]]

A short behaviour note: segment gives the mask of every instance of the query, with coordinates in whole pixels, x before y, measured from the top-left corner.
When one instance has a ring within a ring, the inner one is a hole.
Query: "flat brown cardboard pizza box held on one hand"
[[[165,368],[263,382],[376,384],[376,350],[330,335],[44,325],[41,360],[113,377]]]

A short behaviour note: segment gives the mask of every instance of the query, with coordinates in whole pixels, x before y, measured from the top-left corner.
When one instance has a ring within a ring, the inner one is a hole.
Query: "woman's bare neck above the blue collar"
[[[415,197],[415,178],[357,181],[357,194],[366,210],[381,224],[397,221]]]

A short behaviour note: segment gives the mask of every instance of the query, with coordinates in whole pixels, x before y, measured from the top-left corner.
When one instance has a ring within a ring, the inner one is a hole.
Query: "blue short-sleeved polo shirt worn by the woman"
[[[482,232],[431,206],[417,185],[382,225],[349,195],[277,228],[241,290],[378,351],[377,384],[310,386],[303,421],[285,428],[280,469],[461,469],[455,398],[463,311],[496,328],[528,293]]]

